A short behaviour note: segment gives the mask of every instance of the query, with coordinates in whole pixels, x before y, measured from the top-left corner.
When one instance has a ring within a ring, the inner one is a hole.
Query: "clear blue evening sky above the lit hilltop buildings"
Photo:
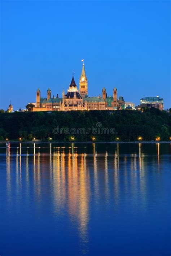
[[[88,95],[114,86],[125,101],[170,93],[169,1],[1,1],[0,108],[62,96],[84,58]]]

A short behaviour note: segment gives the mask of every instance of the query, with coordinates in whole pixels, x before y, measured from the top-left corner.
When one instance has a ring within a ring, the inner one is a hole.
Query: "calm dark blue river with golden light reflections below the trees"
[[[0,255],[170,256],[171,144],[0,145]]]

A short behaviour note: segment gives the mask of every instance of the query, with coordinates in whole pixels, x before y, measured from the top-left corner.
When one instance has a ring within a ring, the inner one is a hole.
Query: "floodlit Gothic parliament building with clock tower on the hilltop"
[[[57,110],[116,110],[124,109],[124,99],[118,97],[117,88],[113,89],[113,96],[107,96],[106,89],[103,87],[102,96],[88,96],[88,81],[83,63],[82,73],[80,76],[79,90],[74,81],[74,75],[71,80],[69,89],[65,94],[62,92],[62,98],[51,97],[51,90],[47,90],[47,98],[41,97],[40,89],[36,91],[36,103],[33,111],[57,111]]]

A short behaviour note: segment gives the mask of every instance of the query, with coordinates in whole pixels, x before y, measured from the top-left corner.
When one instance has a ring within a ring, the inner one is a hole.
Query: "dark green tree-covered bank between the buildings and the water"
[[[97,123],[101,123],[100,127]],[[96,128],[94,133],[91,127]],[[89,133],[82,133],[81,128]],[[56,130],[55,130],[56,129]],[[62,132],[58,131],[62,129]],[[103,129],[104,132],[101,132]],[[106,132],[108,129],[109,133]],[[113,133],[110,130],[113,129]],[[65,131],[67,130],[67,133]],[[99,132],[100,131],[100,132]],[[170,140],[171,114],[155,108],[115,111],[0,112],[0,140]]]

